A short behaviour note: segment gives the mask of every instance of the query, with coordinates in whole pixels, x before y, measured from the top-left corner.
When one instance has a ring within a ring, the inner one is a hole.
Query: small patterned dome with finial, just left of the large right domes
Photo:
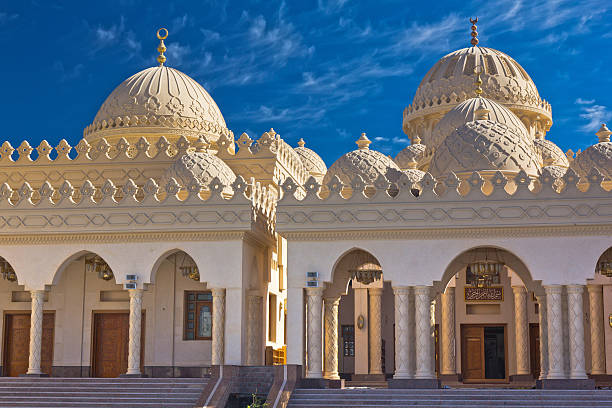
[[[336,160],[325,174],[323,184],[331,181],[333,176],[338,176],[344,184],[350,184],[356,174],[359,174],[367,184],[374,184],[379,176],[386,176],[389,168],[399,170],[397,164],[388,156],[376,150],[370,150],[371,142],[365,133],[356,143],[359,149],[348,152]]]

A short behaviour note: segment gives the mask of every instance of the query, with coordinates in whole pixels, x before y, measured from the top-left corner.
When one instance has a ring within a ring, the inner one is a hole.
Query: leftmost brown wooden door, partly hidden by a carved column
[[[55,313],[43,314],[41,370],[51,375]],[[10,313],[4,318],[4,375],[18,377],[28,371],[30,357],[30,313]]]

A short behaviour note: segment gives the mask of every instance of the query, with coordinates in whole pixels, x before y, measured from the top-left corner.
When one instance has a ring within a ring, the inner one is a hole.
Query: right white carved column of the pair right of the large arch
[[[567,285],[567,321],[569,324],[570,378],[586,379],[584,362],[583,285]]]

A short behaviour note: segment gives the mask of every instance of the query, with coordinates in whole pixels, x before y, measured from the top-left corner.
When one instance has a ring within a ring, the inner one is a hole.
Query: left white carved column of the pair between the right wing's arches
[[[410,343],[414,341],[414,313],[410,309],[410,287],[397,286],[395,294],[395,379],[413,378]]]

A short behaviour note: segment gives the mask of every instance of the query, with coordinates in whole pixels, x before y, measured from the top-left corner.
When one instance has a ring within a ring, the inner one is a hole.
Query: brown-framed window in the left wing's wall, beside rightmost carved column
[[[183,340],[212,339],[212,293],[185,292]]]

